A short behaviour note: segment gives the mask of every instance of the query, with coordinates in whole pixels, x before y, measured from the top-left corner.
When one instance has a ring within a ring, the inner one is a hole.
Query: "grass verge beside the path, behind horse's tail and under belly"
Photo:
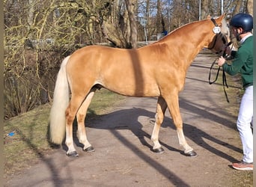
[[[124,99],[106,89],[97,91],[88,109],[87,120],[106,114]],[[30,167],[54,150],[48,141],[50,108],[49,104],[40,105],[4,122],[4,178]],[[10,132],[14,135],[7,135]]]

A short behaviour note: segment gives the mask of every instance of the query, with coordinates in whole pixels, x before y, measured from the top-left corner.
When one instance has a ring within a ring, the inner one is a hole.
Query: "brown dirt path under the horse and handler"
[[[180,94],[186,140],[198,157],[181,154],[168,111],[160,129],[165,152],[153,153],[156,98],[130,97],[88,125],[94,153],[77,147],[79,158],[68,158],[59,149],[5,186],[237,186],[240,171],[230,167],[242,157],[236,116],[225,111],[220,87],[207,83],[211,62],[209,55],[198,55]]]

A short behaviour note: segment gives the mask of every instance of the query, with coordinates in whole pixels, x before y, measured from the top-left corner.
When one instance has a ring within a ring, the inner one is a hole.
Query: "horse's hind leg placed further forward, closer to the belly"
[[[82,102],[82,105],[80,106],[79,111],[77,111],[76,114],[79,142],[84,145],[83,150],[86,152],[94,151],[94,147],[91,146],[86,136],[85,117],[95,91],[96,88],[91,89],[90,93],[88,93],[88,95],[85,98],[85,101]]]

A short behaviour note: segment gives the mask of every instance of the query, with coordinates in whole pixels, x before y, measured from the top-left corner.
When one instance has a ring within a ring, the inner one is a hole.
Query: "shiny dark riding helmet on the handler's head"
[[[231,19],[230,25],[235,28],[243,28],[243,33],[252,31],[253,18],[248,13],[237,13]]]

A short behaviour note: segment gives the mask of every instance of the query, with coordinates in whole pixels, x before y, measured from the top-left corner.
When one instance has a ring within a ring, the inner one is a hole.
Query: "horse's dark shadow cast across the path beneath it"
[[[205,111],[207,112],[207,111]],[[129,108],[129,109],[121,109],[119,111],[113,111],[109,114],[103,114],[98,115],[94,117],[93,120],[85,120],[86,128],[92,128],[92,129],[108,129],[117,137],[119,140],[124,140],[123,135],[119,133],[118,129],[125,129],[131,131],[141,142],[142,145],[145,147],[148,147],[150,150],[152,149],[152,145],[147,143],[147,140],[150,139],[150,134],[153,130],[153,124],[154,124],[154,115],[155,113],[152,111],[147,111],[142,108]],[[147,117],[147,122],[144,122],[143,124],[139,122],[138,117]],[[204,115],[203,116],[207,116]],[[106,121],[106,123],[100,123],[100,121]],[[147,126],[147,132],[144,130],[144,124]],[[150,127],[148,126],[150,125]],[[151,132],[148,132],[148,129],[151,128]],[[165,120],[162,123],[161,128],[170,128],[175,130],[175,126],[173,121],[170,117],[166,116],[165,114]],[[77,125],[76,122],[73,126],[73,139],[77,147],[83,147],[82,144],[79,143],[79,140],[76,136],[77,131]],[[187,141],[194,141],[195,144],[197,144],[200,147],[203,147],[206,150],[209,150],[211,153],[216,154],[217,156],[221,156],[223,159],[227,159],[230,162],[237,162],[237,159],[234,159],[234,157],[228,155],[227,153],[222,152],[221,150],[218,150],[214,145],[211,145],[205,141],[207,139],[208,141],[214,142],[214,144],[219,144],[221,146],[228,147],[231,150],[234,150],[238,153],[242,153],[242,150],[240,148],[235,147],[234,145],[228,144],[228,142],[221,141],[218,138],[213,137],[213,135],[207,134],[207,132],[202,131],[201,129],[198,129],[196,126],[192,126],[188,123],[183,123],[183,131],[186,136]],[[161,130],[159,132],[161,134]],[[189,139],[189,140],[188,140]],[[89,140],[90,141],[90,140]],[[171,145],[166,144],[165,142],[160,141],[159,142],[164,147],[164,149],[168,149],[171,151],[176,151],[180,154],[183,154],[183,150],[178,150],[175,147],[171,147]],[[125,143],[123,141],[123,144],[127,147],[130,146],[130,144],[127,142]],[[153,144],[153,143],[152,143]],[[64,150],[67,150],[67,147],[63,144]],[[196,151],[196,150],[195,150]]]

